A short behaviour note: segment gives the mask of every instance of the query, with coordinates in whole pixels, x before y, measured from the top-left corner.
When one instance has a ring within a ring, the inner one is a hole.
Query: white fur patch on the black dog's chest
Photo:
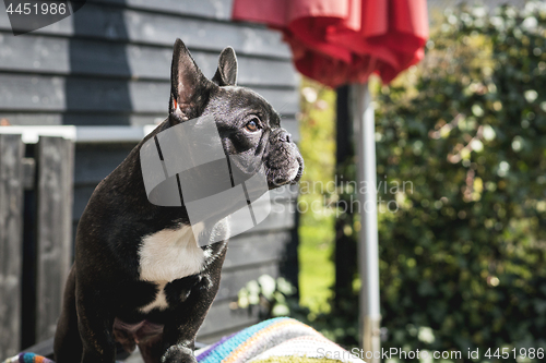
[[[201,271],[204,251],[198,245],[190,226],[176,230],[162,230],[142,239],[139,250],[140,278],[158,286],[155,300],[141,308],[147,313],[153,308],[166,308],[165,285]]]

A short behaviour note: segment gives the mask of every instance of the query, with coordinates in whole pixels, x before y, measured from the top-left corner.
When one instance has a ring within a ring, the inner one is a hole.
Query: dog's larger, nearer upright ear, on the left
[[[198,117],[215,85],[209,81],[180,39],[175,41],[170,65],[169,119],[179,123]]]

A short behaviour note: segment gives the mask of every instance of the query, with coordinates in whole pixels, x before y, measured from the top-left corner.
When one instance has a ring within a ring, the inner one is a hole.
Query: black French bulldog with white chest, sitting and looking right
[[[218,290],[227,241],[200,247],[183,205],[150,203],[139,153],[159,132],[211,116],[226,155],[263,162],[269,189],[296,182],[304,162],[290,135],[236,77],[232,48],[210,81],[175,43],[168,118],[98,184],[78,226],[55,337],[58,363],[111,363],[116,340],[129,351],[138,344],[146,363],[195,362],[195,335]]]

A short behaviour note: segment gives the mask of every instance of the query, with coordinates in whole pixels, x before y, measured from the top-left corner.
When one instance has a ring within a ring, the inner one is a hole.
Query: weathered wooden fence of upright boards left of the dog
[[[72,261],[74,145],[0,134],[0,359],[55,331]]]

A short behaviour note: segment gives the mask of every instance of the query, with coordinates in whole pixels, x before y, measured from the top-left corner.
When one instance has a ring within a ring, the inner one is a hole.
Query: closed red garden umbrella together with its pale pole
[[[297,70],[310,78],[331,87],[357,83],[352,87],[357,181],[377,185],[373,108],[363,84],[371,73],[389,83],[423,59],[426,0],[235,0],[233,17],[281,29]],[[359,201],[361,358],[375,363],[382,355],[376,189],[366,187]]]

